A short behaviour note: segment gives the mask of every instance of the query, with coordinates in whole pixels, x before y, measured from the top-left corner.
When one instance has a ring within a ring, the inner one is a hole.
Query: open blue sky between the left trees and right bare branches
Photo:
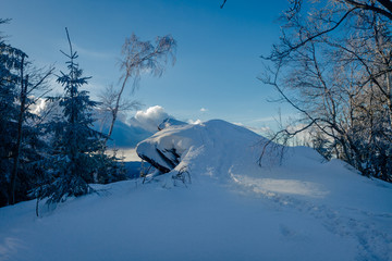
[[[145,109],[161,105],[179,120],[223,119],[252,127],[273,124],[290,114],[281,103],[267,99],[277,92],[257,79],[261,54],[277,44],[277,22],[286,0],[2,0],[0,17],[12,18],[1,27],[9,42],[24,50],[38,66],[64,67],[70,30],[79,65],[93,76],[91,96],[118,84],[118,59],[125,37],[142,40],[171,34],[177,41],[176,63],[161,78],[142,76],[132,97]],[[131,88],[126,95],[131,95]],[[205,110],[200,110],[204,108]]]

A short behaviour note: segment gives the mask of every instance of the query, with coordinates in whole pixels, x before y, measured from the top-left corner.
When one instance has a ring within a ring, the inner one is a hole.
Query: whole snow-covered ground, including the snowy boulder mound
[[[158,132],[137,152],[167,174],[0,209],[0,260],[392,260],[391,184],[304,147],[260,167],[265,141],[223,121]]]

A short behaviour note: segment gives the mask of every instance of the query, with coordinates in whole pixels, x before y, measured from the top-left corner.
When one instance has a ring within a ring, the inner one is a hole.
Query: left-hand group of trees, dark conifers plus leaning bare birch
[[[0,20],[0,25],[10,20]],[[126,179],[122,161],[108,152],[107,142],[119,111],[137,108],[136,101],[122,97],[125,86],[136,88],[140,72],[162,75],[164,64],[173,60],[175,40],[157,37],[142,41],[135,35],[125,39],[121,63],[123,76],[119,90],[107,88],[99,101],[83,89],[90,77],[83,75],[69,30],[69,51],[61,51],[68,71],[36,69],[22,50],[0,36],[1,127],[0,127],[0,206],[37,199],[56,204],[68,197],[95,192],[89,184],[108,184]],[[63,87],[61,96],[50,96],[50,78]],[[33,108],[45,100],[45,108]],[[94,127],[98,115],[110,116],[109,130]]]

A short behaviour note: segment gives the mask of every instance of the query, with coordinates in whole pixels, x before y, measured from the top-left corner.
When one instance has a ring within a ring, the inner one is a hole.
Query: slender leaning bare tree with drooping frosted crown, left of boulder
[[[133,79],[132,94],[138,87],[142,74],[150,74],[160,77],[168,62],[175,62],[176,42],[171,35],[157,37],[155,45],[150,41],[139,40],[135,34],[125,39],[122,47],[122,60],[120,62],[120,70],[122,76],[120,78],[121,86],[119,91],[112,92],[114,96],[111,101],[112,121],[109,127],[108,138],[113,132],[113,126],[121,109],[121,99],[125,86],[130,79]]]

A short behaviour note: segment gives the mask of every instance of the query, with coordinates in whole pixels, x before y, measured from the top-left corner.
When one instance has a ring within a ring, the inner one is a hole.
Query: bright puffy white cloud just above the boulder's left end
[[[130,120],[130,124],[147,129],[151,133],[158,130],[158,125],[168,119],[169,114],[160,105],[150,107],[145,111],[137,111]]]

